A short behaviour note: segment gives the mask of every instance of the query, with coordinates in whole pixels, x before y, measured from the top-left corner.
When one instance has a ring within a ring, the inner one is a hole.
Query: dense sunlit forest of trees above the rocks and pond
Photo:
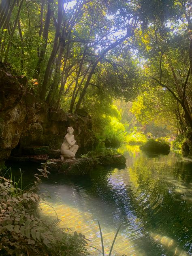
[[[84,109],[97,136],[192,129],[191,0],[0,0],[0,61],[51,109]]]

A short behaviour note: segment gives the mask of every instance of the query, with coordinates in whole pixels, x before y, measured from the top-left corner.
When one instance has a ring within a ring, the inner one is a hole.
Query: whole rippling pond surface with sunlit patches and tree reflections
[[[124,169],[99,168],[91,177],[51,173],[43,181],[60,226],[83,233],[102,250],[99,220],[105,255],[120,224],[112,255],[192,255],[192,158],[174,151],[147,156],[139,147],[119,152],[127,158]],[[49,205],[41,203],[42,215],[55,218]]]

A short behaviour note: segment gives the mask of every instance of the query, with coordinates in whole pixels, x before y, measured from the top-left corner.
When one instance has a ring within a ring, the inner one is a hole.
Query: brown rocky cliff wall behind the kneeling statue
[[[14,77],[0,63],[0,161],[10,154],[23,154],[28,146],[60,149],[68,126],[73,126],[79,147],[91,147],[94,140],[89,115],[50,109],[26,91],[26,81],[25,77]]]

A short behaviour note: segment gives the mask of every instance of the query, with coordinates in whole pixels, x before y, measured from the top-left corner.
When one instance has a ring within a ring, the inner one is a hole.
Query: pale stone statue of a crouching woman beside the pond
[[[79,146],[75,145],[76,141],[73,131],[73,127],[70,126],[67,128],[67,134],[65,135],[61,145],[61,160],[64,160],[64,156],[72,157],[72,159],[75,160],[75,154]]]

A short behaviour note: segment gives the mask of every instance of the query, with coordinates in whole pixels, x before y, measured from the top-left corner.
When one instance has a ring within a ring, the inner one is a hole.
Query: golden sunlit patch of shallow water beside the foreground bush
[[[60,227],[62,228],[71,228],[72,231],[77,231],[77,233],[83,233],[87,239],[90,239],[89,245],[94,246],[102,251],[100,233],[97,220],[94,220],[94,217],[89,212],[83,212],[76,207],[71,207],[65,204],[52,204],[51,202],[41,203],[41,214],[43,216],[50,216],[51,218],[56,218],[55,211],[47,205],[50,204],[58,214],[58,218],[61,220]],[[102,221],[100,221],[102,222]],[[105,254],[109,255],[111,244],[113,242],[116,230],[106,229],[102,223],[100,223],[102,229],[102,235],[105,246]],[[107,230],[107,233],[106,233]],[[72,234],[73,234],[72,232]],[[126,237],[125,234],[119,232],[115,245],[113,247],[113,254],[115,256],[122,256],[126,254],[128,256],[147,256],[143,250],[140,250],[134,241],[130,241],[131,238]],[[87,247],[87,250],[91,252],[91,255],[100,255],[94,249]]]

